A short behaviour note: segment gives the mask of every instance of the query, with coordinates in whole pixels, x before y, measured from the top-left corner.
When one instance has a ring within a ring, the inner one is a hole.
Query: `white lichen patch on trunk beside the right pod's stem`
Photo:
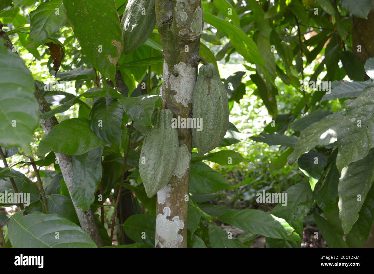
[[[181,103],[185,107],[188,106],[188,103],[192,103],[192,91],[196,82],[195,71],[195,67],[190,65],[187,66],[184,62],[179,62],[178,65],[174,65],[173,73],[169,75],[168,80],[171,89],[177,93],[174,95],[175,101]],[[165,81],[167,81],[167,79]]]

